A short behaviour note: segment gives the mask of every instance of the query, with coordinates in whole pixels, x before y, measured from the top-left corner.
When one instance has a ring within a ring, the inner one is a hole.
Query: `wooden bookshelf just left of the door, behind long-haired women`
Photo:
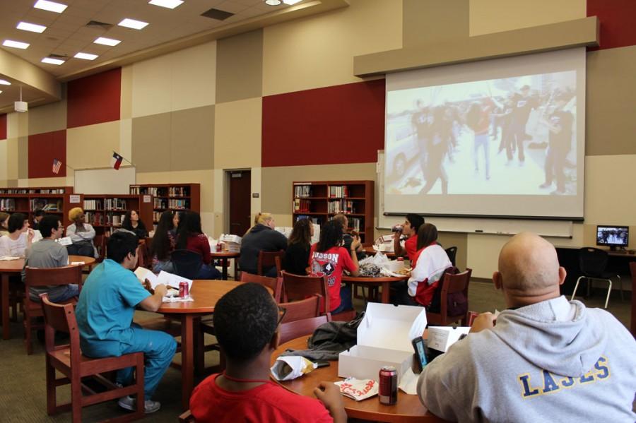
[[[135,184],[130,193],[153,196],[154,225],[166,210],[201,212],[201,184]]]

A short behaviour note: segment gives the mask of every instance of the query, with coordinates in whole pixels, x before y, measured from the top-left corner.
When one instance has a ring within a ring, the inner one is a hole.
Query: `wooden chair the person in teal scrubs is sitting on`
[[[46,323],[46,378],[47,378],[47,414],[72,410],[73,423],[82,420],[82,407],[105,401],[112,401],[126,395],[136,395],[137,409],[134,413],[110,419],[109,422],[130,422],[141,419],[143,413],[143,352],[92,359],[82,355],[80,350],[79,330],[72,304],[54,304],[49,302],[47,294],[42,294],[42,309]],[[69,334],[68,345],[54,345],[55,331]],[[102,376],[103,373],[135,367],[136,381],[134,385],[119,388]],[[64,377],[55,376],[59,371]],[[83,379],[91,377],[101,383],[108,391],[95,393],[83,383]],[[71,403],[57,405],[55,390],[57,386],[71,384]],[[88,393],[88,395],[83,395]]]

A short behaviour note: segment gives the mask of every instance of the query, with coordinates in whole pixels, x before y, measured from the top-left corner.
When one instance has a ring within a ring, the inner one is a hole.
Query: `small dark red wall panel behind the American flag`
[[[59,173],[53,173],[53,159],[61,160]],[[66,129],[29,136],[29,177],[66,176]]]

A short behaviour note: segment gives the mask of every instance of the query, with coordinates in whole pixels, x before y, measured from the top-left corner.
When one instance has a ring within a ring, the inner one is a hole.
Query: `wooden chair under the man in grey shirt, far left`
[[[25,295],[22,310],[24,314],[24,342],[27,354],[33,354],[31,333],[34,329],[43,329],[44,324],[33,321],[36,317],[42,317],[42,304],[33,301],[29,295],[30,287],[68,285],[74,283],[82,286],[82,266],[65,266],[63,268],[30,268],[26,267]],[[64,304],[76,304],[76,299],[69,299]]]

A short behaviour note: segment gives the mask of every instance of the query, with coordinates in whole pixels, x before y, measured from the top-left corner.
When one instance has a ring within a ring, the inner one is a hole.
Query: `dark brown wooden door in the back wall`
[[[252,226],[252,172],[228,171],[230,179],[230,234],[242,237]]]

